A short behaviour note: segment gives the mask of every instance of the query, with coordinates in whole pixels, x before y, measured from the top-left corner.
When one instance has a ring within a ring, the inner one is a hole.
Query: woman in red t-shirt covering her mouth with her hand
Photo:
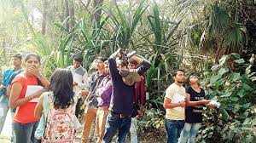
[[[28,86],[42,85],[47,86],[48,80],[39,72],[40,57],[38,54],[26,54],[23,61],[25,67],[24,72],[17,75],[11,83],[11,92],[9,99],[9,107],[16,108],[13,118],[13,129],[15,133],[15,143],[34,142],[34,132],[38,127],[40,118],[34,117],[34,109],[37,106],[36,102],[31,102],[38,98],[43,89],[37,92],[26,95]]]

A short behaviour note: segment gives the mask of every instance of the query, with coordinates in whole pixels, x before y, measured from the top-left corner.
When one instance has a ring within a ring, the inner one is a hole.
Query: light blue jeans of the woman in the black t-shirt
[[[180,134],[178,143],[186,143],[189,138],[189,143],[195,143],[195,136],[200,129],[201,123],[185,123],[183,131]]]

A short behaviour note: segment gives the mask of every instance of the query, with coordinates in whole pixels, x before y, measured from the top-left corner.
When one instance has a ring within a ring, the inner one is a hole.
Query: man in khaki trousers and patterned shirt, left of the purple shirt
[[[90,129],[92,123],[96,119],[96,112],[97,112],[97,96],[96,96],[96,89],[99,84],[102,82],[102,79],[105,77],[105,69],[104,69],[104,58],[98,57],[96,59],[97,62],[97,72],[95,72],[90,77],[90,92],[85,100],[85,110],[84,110],[84,129],[82,135],[82,141],[84,143],[88,142],[88,138],[90,135]]]

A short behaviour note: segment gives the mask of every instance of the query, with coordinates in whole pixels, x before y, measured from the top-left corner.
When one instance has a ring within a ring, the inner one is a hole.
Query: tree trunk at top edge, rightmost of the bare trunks
[[[92,23],[96,22],[96,25],[99,25],[102,18],[103,0],[94,0],[93,2],[93,8],[95,9],[95,12],[91,15],[91,21]]]

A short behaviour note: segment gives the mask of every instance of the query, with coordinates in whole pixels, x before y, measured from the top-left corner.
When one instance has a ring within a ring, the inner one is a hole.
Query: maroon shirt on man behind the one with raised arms
[[[135,98],[134,102],[138,106],[143,106],[146,100],[146,85],[145,85],[145,78],[141,76],[141,80],[135,83]]]

